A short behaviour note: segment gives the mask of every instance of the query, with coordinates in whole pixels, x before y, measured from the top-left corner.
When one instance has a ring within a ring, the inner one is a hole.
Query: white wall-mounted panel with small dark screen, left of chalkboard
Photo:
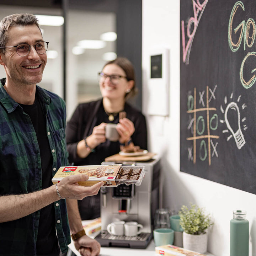
[[[156,48],[149,55],[146,82],[146,112],[155,116],[169,116],[170,66],[169,49]]]

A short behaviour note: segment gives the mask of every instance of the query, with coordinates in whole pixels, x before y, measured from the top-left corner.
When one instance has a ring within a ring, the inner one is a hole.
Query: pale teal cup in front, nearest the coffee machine
[[[161,245],[173,245],[174,242],[174,230],[173,229],[154,229],[154,242],[155,246]]]

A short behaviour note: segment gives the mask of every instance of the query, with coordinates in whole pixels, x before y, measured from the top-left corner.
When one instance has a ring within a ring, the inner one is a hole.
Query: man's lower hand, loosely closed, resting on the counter
[[[74,241],[76,250],[81,255],[99,255],[100,244],[95,239],[90,238],[87,235],[81,236],[77,241]]]

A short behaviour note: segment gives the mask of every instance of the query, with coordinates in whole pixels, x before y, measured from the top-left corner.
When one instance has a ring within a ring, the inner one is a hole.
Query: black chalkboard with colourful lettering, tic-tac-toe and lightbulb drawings
[[[256,194],[256,1],[180,1],[180,171]]]

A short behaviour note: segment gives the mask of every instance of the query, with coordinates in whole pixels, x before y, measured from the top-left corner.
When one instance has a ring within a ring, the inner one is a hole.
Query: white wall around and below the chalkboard
[[[192,4],[192,1],[191,1]],[[208,251],[229,255],[230,219],[244,209],[250,223],[249,255],[256,255],[256,195],[180,172],[180,0],[143,0],[142,68],[143,113],[151,48],[170,49],[170,115],[149,116],[149,147],[162,161],[163,207],[179,210],[182,204],[205,207],[214,220]]]

